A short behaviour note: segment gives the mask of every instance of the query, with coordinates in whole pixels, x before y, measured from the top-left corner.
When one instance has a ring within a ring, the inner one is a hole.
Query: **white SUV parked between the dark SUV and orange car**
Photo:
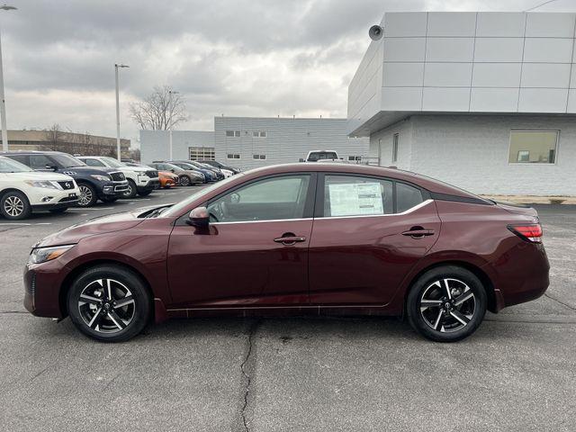
[[[106,156],[80,156],[77,157],[87,166],[110,167],[121,171],[128,180],[128,191],[124,193],[124,198],[134,198],[138,193],[140,196],[149,195],[154,189],[160,187],[158,172],[149,166],[127,166],[118,159]]]

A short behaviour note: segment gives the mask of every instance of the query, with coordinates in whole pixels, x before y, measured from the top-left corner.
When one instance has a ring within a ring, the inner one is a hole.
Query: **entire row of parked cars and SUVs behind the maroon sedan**
[[[0,152],[0,212],[9,220],[32,211],[64,212],[98,200],[147,196],[160,187],[216,182],[239,172],[192,160],[154,162],[150,166],[113,157],[74,157],[59,151]],[[220,167],[221,166],[221,167]]]

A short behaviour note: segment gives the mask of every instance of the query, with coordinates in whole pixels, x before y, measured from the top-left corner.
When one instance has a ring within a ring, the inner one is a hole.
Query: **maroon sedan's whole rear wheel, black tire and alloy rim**
[[[459,266],[429,270],[412,284],[406,311],[412,328],[437,342],[455,342],[478,329],[487,307],[486,288]]]

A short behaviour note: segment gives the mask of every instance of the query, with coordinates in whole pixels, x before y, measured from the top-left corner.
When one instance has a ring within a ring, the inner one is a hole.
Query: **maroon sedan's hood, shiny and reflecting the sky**
[[[34,247],[69,245],[77,243],[82,238],[134,228],[143,220],[138,217],[143,211],[148,210],[125,211],[85,220],[42,238]]]

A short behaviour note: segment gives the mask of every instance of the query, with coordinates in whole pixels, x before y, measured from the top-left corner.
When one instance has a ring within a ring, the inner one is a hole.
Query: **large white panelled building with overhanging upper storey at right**
[[[348,88],[370,156],[475,193],[576,195],[576,14],[390,13]]]

